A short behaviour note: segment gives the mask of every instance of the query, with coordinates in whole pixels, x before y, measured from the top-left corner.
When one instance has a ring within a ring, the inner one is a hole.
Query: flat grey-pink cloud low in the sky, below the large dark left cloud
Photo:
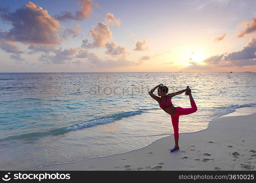
[[[64,64],[68,60],[74,59],[74,55],[77,54],[77,48],[64,49],[59,48],[54,51],[55,55],[42,54],[39,60],[44,61],[48,64]]]

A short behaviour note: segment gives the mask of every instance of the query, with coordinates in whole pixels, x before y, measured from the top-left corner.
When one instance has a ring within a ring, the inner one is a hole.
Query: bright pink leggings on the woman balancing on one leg
[[[174,129],[174,138],[179,137],[179,116],[188,115],[197,111],[196,102],[190,102],[191,108],[176,107],[177,112],[175,115],[171,115],[171,123]]]

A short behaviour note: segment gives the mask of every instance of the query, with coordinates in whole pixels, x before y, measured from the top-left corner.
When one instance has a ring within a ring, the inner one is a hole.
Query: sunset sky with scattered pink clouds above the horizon
[[[256,72],[254,0],[1,0],[0,72]]]

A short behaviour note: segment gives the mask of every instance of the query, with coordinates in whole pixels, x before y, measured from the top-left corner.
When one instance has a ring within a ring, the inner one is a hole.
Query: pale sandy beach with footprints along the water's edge
[[[142,149],[35,170],[256,170],[256,113],[214,119],[206,130],[171,135]]]

